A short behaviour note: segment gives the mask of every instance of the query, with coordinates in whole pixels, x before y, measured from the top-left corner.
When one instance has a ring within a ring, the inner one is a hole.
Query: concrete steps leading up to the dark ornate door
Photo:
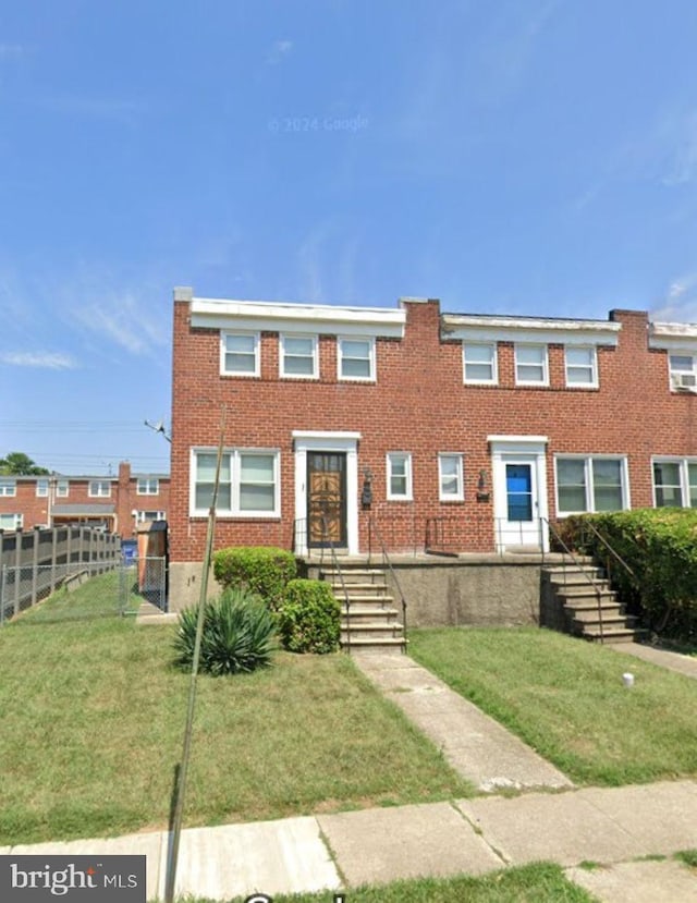
[[[341,605],[341,646],[351,652],[404,651],[404,624],[381,568],[341,563],[341,570],[321,569]]]

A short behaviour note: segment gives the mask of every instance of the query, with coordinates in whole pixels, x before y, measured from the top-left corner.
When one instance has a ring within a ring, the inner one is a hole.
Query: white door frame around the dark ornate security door
[[[346,455],[346,547],[358,554],[358,440],[359,432],[293,430],[295,448],[295,521],[306,528],[295,537],[295,554],[307,548],[307,452],[343,452]]]

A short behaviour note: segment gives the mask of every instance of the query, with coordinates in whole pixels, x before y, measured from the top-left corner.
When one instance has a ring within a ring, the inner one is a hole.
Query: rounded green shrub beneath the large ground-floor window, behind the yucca
[[[223,587],[246,587],[261,596],[272,611],[278,611],[285,585],[297,574],[297,564],[293,552],[285,549],[234,546],[216,552],[213,574]]]

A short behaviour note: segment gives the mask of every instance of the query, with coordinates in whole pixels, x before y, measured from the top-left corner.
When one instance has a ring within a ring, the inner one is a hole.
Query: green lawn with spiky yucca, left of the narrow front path
[[[168,823],[188,675],[113,598],[105,575],[0,630],[0,845]],[[186,827],[470,792],[343,655],[199,679]]]

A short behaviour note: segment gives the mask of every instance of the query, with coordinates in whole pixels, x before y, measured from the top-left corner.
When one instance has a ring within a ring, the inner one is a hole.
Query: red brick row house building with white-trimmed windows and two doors
[[[697,325],[442,314],[174,293],[170,549],[328,535],[391,551],[548,542],[583,511],[697,504]]]

